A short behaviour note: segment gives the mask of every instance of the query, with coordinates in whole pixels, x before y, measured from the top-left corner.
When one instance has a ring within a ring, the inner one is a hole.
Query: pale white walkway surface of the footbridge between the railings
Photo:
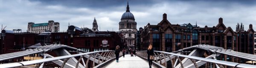
[[[120,57],[119,62],[116,60],[103,66],[102,68],[149,68],[147,60],[143,60],[140,57],[131,57],[131,54]],[[157,68],[152,64],[152,68]]]

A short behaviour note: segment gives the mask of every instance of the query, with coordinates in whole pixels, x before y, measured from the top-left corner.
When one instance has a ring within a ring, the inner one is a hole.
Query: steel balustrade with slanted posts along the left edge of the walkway
[[[60,56],[60,57],[51,57],[51,58],[45,58],[45,59],[39,59],[39,60],[23,61],[23,62],[18,62],[18,63],[6,63],[6,64],[0,64],[0,67],[1,68],[13,68],[13,67],[26,66],[26,65],[41,64],[41,63],[45,64],[45,62],[51,62],[54,60],[64,60],[62,62],[61,68],[65,68],[64,67],[65,65],[70,65],[70,64],[67,64],[69,59],[71,59],[72,57],[79,57],[79,60],[75,63],[76,66],[71,65],[74,68],[78,68],[80,61],[84,62],[84,60],[83,60],[84,55],[90,55],[90,57],[93,58],[92,55],[95,54],[93,59],[96,61],[96,57],[98,57],[97,61],[99,61],[100,57],[101,57],[101,55],[99,55],[99,53],[103,54],[103,52],[104,52],[104,54],[106,52],[109,52],[108,55],[103,55],[103,56],[107,56],[106,58],[108,58],[105,61],[115,59],[114,51],[108,50],[108,51],[95,51],[95,52],[86,52],[86,53],[80,53],[80,54],[65,55],[65,56]],[[87,58],[86,66],[85,66],[86,68],[88,68],[88,63],[89,63],[90,57]],[[102,59],[104,59],[104,57],[102,57]],[[93,61],[93,64],[96,63],[95,61]],[[102,61],[102,62],[104,62],[104,61]],[[93,67],[94,66],[95,65],[93,65]]]

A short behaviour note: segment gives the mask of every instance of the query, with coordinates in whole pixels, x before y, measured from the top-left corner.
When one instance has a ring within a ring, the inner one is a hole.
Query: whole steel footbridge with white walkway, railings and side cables
[[[50,54],[55,53],[57,56]],[[6,62],[39,54],[42,59]],[[115,62],[113,50],[85,52],[66,45],[38,46],[21,52],[0,54],[0,68],[149,68],[146,51],[137,51],[137,57],[129,54]],[[231,49],[210,45],[195,45],[175,52],[154,51],[152,68],[256,68],[256,65],[220,60],[231,56],[235,59],[256,61],[256,55],[236,52]]]

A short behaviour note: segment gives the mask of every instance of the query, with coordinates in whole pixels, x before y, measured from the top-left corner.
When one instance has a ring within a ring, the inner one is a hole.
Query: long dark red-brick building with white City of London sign
[[[95,22],[94,22],[95,23]],[[3,30],[0,39],[0,54],[18,52],[27,47],[43,44],[64,44],[84,51],[114,50],[123,41],[119,33],[109,31],[93,32],[89,28],[69,26],[67,32],[14,33]]]

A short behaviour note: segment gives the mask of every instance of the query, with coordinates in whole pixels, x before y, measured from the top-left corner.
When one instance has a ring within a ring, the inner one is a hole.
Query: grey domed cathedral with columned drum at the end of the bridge
[[[134,15],[130,12],[129,3],[127,3],[126,12],[122,14],[121,22],[119,22],[119,33],[124,35],[128,47],[135,47],[137,22],[135,22]]]

